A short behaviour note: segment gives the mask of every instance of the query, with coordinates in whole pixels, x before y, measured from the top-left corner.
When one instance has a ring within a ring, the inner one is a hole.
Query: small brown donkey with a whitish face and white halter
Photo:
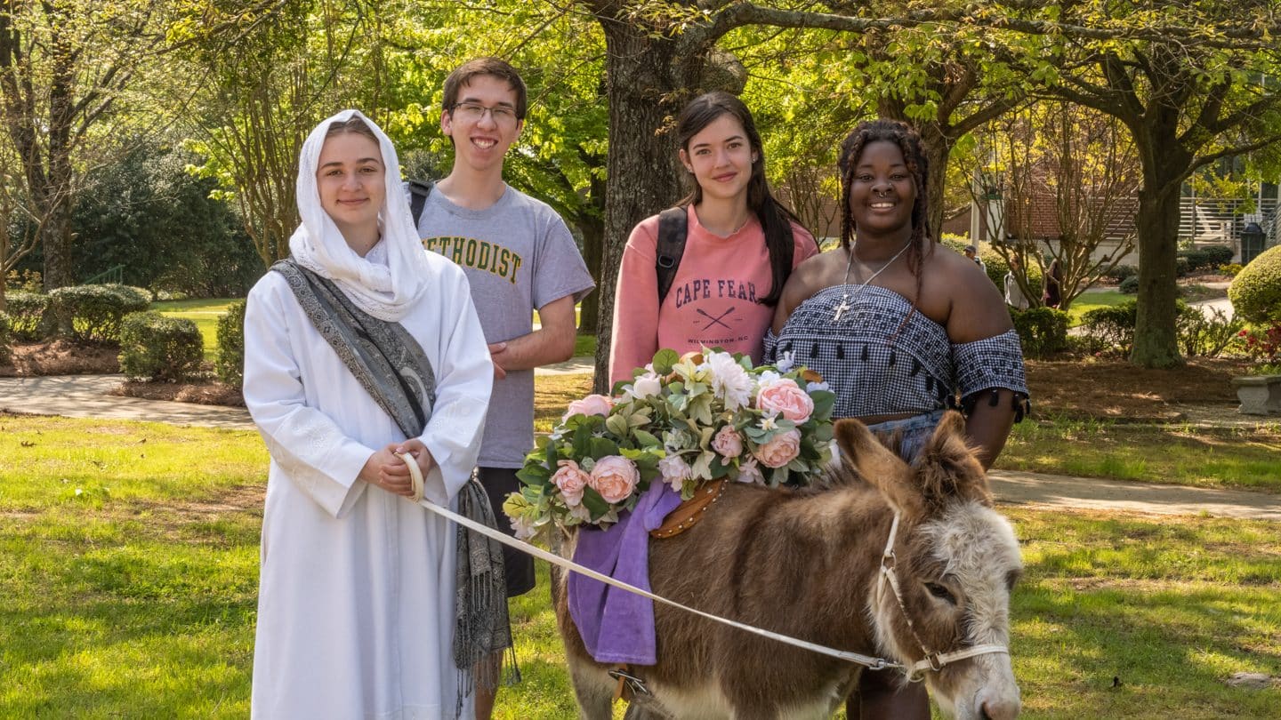
[[[651,541],[653,592],[775,633],[916,664],[949,716],[1016,717],[1006,647],[1022,562],[1009,523],[991,509],[965,420],[945,415],[911,466],[857,420],[836,423],[836,441],[842,469],[829,488],[733,484],[690,529]],[[587,653],[565,582],[555,588],[556,618],[580,717],[608,719],[616,682]],[[862,671],[662,603],[655,625],[658,664],[628,670],[652,694],[638,693],[629,717],[829,717]],[[949,657],[967,648],[981,653]]]

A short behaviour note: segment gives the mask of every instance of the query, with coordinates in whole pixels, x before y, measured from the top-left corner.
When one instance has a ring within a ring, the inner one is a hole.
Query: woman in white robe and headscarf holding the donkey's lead
[[[368,136],[328,135],[352,118]],[[392,454],[416,457],[424,505],[452,503],[489,400],[484,334],[462,272],[419,245],[395,149],[373,122],[347,110],[313,131],[297,196],[295,261],[404,325],[430,361],[437,397],[421,436],[405,438],[281,273],[250,292],[245,401],[272,455],[252,715],[451,717],[455,528],[410,500],[409,468]]]

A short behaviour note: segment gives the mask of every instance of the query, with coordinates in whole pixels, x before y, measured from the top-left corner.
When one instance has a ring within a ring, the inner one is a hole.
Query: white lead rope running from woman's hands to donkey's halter
[[[729,618],[721,618],[720,615],[712,615],[711,612],[705,612],[702,610],[697,610],[694,607],[689,607],[687,605],[681,605],[681,603],[679,603],[679,602],[676,602],[674,600],[667,600],[665,597],[653,594],[649,591],[640,589],[640,588],[638,588],[638,587],[635,587],[633,584],[624,583],[623,580],[617,580],[617,579],[611,578],[611,577],[608,577],[608,575],[606,575],[603,573],[598,573],[598,571],[596,571],[596,570],[593,570],[591,568],[587,568],[585,565],[579,565],[578,562],[574,562],[573,560],[567,560],[565,557],[561,557],[559,555],[548,552],[548,551],[546,551],[546,550],[543,550],[543,548],[541,548],[541,547],[538,547],[535,544],[530,544],[528,542],[523,542],[523,541],[519,541],[516,538],[512,538],[512,537],[510,537],[510,536],[507,536],[507,534],[505,534],[505,533],[502,533],[500,530],[496,530],[493,528],[488,528],[485,525],[482,525],[480,523],[477,523],[474,520],[464,518],[462,515],[459,515],[457,512],[453,512],[448,507],[442,507],[439,505],[434,505],[430,501],[425,501],[424,502],[423,501],[423,471],[418,466],[418,461],[414,460],[414,457],[410,456],[409,454],[402,454],[402,455],[400,455],[400,457],[401,457],[401,460],[405,461],[406,465],[409,465],[410,478],[411,478],[412,488],[414,488],[414,501],[418,502],[421,507],[425,507],[425,509],[430,510],[432,512],[436,512],[437,515],[441,515],[442,518],[452,520],[452,521],[462,525],[464,528],[466,528],[469,530],[480,533],[482,536],[484,536],[487,538],[498,541],[502,544],[514,547],[514,548],[516,548],[516,550],[519,550],[521,552],[526,552],[526,553],[529,553],[529,555],[532,555],[534,557],[538,557],[539,560],[546,560],[547,562],[551,562],[552,565],[559,565],[559,566],[561,566],[561,568],[564,568],[564,569],[566,569],[566,570],[569,570],[571,573],[578,573],[580,575],[585,575],[588,578],[592,578],[593,580],[598,580],[598,582],[602,582],[605,584],[614,585],[614,587],[616,587],[619,589],[630,592],[633,594],[638,594],[640,597],[649,598],[649,600],[652,600],[655,602],[661,602],[664,605],[667,605],[667,606],[671,606],[671,607],[675,607],[675,609],[679,609],[679,610],[684,610],[685,612],[692,612],[694,615],[698,615],[699,618],[705,618],[707,620],[712,620],[712,621],[720,623],[722,625],[729,625],[730,628],[737,628],[739,630],[743,630],[743,632],[747,632],[747,633],[752,633],[752,634],[760,635],[762,638],[769,638],[771,641],[778,641],[780,643],[789,644],[792,647],[798,647],[798,648],[802,648],[802,650],[808,650],[811,652],[817,652],[820,655],[826,655],[829,657],[835,657],[836,660],[844,660],[847,662],[854,662],[854,664],[862,665],[862,666],[865,666],[865,667],[867,667],[870,670],[884,670],[884,669],[888,669],[888,667],[893,667],[893,669],[897,669],[897,670],[903,670],[903,671],[906,671],[908,674],[910,679],[911,678],[920,679],[920,674],[924,673],[925,670],[938,670],[939,667],[942,667],[943,665],[945,665],[948,662],[953,662],[953,661],[962,660],[962,659],[966,659],[966,657],[974,657],[975,655],[985,655],[985,653],[989,653],[989,652],[1004,652],[1004,653],[1009,652],[1003,646],[974,646],[974,647],[968,647],[968,648],[958,651],[958,652],[947,652],[947,653],[942,653],[942,655],[929,655],[925,660],[918,660],[918,661],[913,662],[911,666],[906,666],[902,662],[895,662],[893,660],[885,660],[884,657],[872,657],[870,655],[862,655],[862,653],[858,653],[858,652],[836,650],[836,648],[833,648],[833,647],[826,647],[826,646],[821,646],[821,644],[812,643],[812,642],[808,642],[808,641],[802,641],[799,638],[793,638],[793,637],[784,635],[784,634],[780,634],[780,633],[774,633],[774,632],[770,632],[770,630],[763,630],[761,628],[756,628],[756,626],[752,626],[752,625],[748,625],[748,624],[744,624],[744,623],[739,623],[737,620],[730,620]],[[894,530],[897,530],[897,529],[898,529],[898,514],[895,512],[894,514],[894,525],[893,525],[893,529],[890,532],[890,543],[894,542]],[[893,579],[892,582],[895,585],[898,584],[897,579]],[[938,665],[938,666],[935,666],[935,665]]]

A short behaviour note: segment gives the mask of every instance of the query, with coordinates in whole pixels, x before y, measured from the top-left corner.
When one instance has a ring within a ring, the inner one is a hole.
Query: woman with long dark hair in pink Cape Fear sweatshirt
[[[719,347],[761,361],[765,331],[792,269],[819,247],[770,195],[752,114],[728,92],[692,100],[676,122],[690,193],[687,238],[671,288],[658,297],[658,215],[632,231],[614,300],[610,382],[670,347]],[[666,263],[666,260],[665,260]]]

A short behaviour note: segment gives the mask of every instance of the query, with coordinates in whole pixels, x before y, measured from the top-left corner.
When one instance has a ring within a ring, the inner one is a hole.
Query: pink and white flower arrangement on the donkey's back
[[[503,503],[523,538],[551,525],[607,527],[657,480],[689,498],[710,480],[807,484],[830,459],[835,393],[804,368],[720,351],[653,363],[614,396],[570,404],[516,473]]]

